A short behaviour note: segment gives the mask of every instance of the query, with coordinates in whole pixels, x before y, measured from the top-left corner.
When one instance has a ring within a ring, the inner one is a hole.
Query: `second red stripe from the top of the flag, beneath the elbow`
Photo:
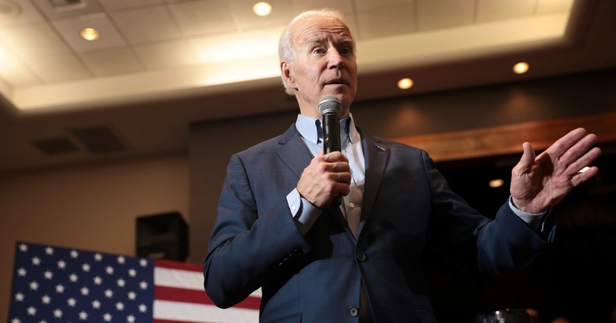
[[[209,299],[208,294],[205,292],[205,290],[179,289],[174,287],[156,286],[154,289],[154,299],[161,301],[179,301],[184,303],[214,305],[214,302]],[[249,296],[233,307],[258,310],[260,305],[260,297]]]

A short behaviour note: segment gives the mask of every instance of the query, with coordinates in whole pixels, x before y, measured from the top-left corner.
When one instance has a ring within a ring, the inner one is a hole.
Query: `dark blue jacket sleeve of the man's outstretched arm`
[[[553,239],[553,218],[546,221],[546,234],[537,234],[517,217],[507,202],[493,221],[479,215],[453,193],[428,154],[425,151],[422,154],[432,196],[428,244],[458,265],[498,276],[527,265]]]

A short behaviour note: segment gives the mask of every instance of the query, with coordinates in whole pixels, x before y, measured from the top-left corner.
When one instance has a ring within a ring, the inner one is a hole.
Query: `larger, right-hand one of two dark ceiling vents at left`
[[[120,138],[107,127],[92,127],[70,130],[91,154],[120,153],[128,150]]]

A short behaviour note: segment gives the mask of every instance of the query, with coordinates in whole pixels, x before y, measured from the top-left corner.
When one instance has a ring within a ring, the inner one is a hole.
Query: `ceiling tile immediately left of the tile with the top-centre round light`
[[[237,31],[225,1],[178,2],[168,7],[185,35]]]

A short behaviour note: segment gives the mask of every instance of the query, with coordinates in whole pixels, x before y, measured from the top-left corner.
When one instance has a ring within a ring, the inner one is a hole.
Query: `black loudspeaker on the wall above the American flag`
[[[188,225],[179,212],[137,217],[138,257],[186,261]]]

